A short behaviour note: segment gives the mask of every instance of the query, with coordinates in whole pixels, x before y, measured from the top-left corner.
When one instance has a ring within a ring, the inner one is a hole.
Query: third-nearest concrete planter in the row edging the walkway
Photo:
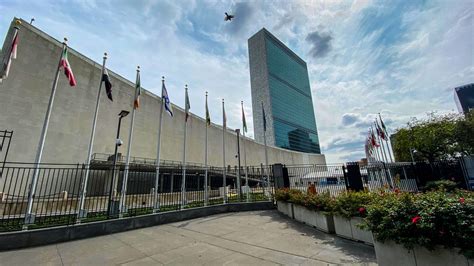
[[[293,205],[295,220],[318,228],[326,233],[334,233],[334,220],[332,215],[325,215],[300,205]]]

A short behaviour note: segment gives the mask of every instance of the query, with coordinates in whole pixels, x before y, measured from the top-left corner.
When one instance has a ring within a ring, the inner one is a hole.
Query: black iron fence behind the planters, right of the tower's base
[[[289,187],[318,193],[327,191],[331,195],[347,189],[417,192],[423,190],[428,182],[436,180],[451,180],[459,188],[471,189],[463,158],[433,163],[355,162],[339,165],[280,165],[280,168],[276,171],[279,174],[275,176],[277,188]]]

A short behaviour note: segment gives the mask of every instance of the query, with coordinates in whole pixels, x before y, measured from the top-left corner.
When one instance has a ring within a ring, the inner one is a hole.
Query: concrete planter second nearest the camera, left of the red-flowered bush
[[[357,225],[360,223],[362,223],[362,218],[360,217],[346,219],[342,216],[334,215],[336,235],[373,245],[374,238],[372,232],[358,228]]]

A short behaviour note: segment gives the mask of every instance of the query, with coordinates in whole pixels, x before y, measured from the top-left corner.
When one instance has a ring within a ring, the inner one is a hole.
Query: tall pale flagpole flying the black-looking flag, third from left
[[[89,149],[87,152],[87,159],[86,159],[86,175],[84,177],[84,181],[82,183],[82,194],[81,194],[81,200],[79,204],[79,219],[80,218],[85,218],[87,215],[86,210],[84,209],[84,204],[86,201],[86,193],[87,193],[87,183],[89,180],[89,174],[90,174],[90,163],[91,163],[91,157],[92,157],[92,147],[94,145],[94,137],[95,137],[95,129],[97,125],[97,116],[99,114],[99,104],[100,104],[100,95],[101,95],[101,90],[102,90],[102,76],[104,75],[104,69],[105,69],[105,61],[107,60],[107,53],[104,53],[103,61],[102,61],[102,71],[100,73],[100,82],[99,82],[99,90],[97,91],[97,101],[95,103],[95,112],[94,112],[94,119],[92,120],[92,132],[91,132],[91,139],[89,141]]]

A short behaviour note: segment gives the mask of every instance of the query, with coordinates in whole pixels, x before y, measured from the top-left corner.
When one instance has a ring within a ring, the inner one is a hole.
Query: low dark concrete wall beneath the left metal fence
[[[54,244],[64,241],[118,233],[159,224],[173,223],[219,213],[270,210],[274,208],[275,207],[272,202],[231,203],[72,226],[1,233],[0,250]]]

